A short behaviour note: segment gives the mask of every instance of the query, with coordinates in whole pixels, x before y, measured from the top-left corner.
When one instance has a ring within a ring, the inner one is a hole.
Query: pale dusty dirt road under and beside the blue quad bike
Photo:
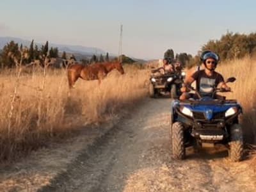
[[[145,100],[42,191],[256,191],[248,161],[230,163],[221,147],[171,158],[170,102]]]

